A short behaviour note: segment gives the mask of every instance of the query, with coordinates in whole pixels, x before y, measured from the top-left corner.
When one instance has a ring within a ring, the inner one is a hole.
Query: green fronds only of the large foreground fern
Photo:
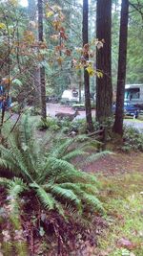
[[[8,134],[6,130],[3,129],[4,136]],[[85,139],[88,138],[85,136]],[[35,139],[28,116],[21,120],[17,129],[10,133],[6,144],[0,145],[0,166],[6,169],[14,209],[18,208],[21,193],[29,190],[35,197],[38,196],[43,207],[62,215],[66,205],[71,205],[81,215],[87,211],[103,211],[96,198],[98,182],[95,176],[76,170],[69,162],[83,153],[82,148],[74,150],[72,147],[77,141],[78,138],[74,141],[61,137]],[[10,175],[13,175],[12,180]]]

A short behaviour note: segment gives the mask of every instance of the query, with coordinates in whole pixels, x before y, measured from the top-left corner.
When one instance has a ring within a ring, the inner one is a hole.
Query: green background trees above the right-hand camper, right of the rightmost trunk
[[[130,1],[128,49],[127,49],[127,83],[143,82],[143,1]]]

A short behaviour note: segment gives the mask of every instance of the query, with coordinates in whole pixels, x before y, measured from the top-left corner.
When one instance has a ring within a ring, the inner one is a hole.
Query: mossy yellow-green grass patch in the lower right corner
[[[108,256],[143,255],[143,176],[118,175],[102,180],[101,200],[107,210],[109,227],[99,240],[99,247]],[[132,248],[118,246],[120,239],[127,239]]]

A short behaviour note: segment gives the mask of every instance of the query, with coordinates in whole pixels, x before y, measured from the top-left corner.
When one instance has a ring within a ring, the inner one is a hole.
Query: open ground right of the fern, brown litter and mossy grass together
[[[84,166],[98,175],[108,227],[95,256],[143,256],[143,153],[114,153]]]

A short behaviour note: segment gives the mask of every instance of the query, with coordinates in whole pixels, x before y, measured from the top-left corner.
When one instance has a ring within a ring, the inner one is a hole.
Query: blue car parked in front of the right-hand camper
[[[112,113],[113,114],[115,114],[115,108],[116,108],[116,105],[112,105]],[[140,109],[138,106],[132,105],[131,103],[128,103],[128,102],[124,103],[124,115],[125,116],[133,116],[133,117],[137,118],[139,111],[140,111]]]

